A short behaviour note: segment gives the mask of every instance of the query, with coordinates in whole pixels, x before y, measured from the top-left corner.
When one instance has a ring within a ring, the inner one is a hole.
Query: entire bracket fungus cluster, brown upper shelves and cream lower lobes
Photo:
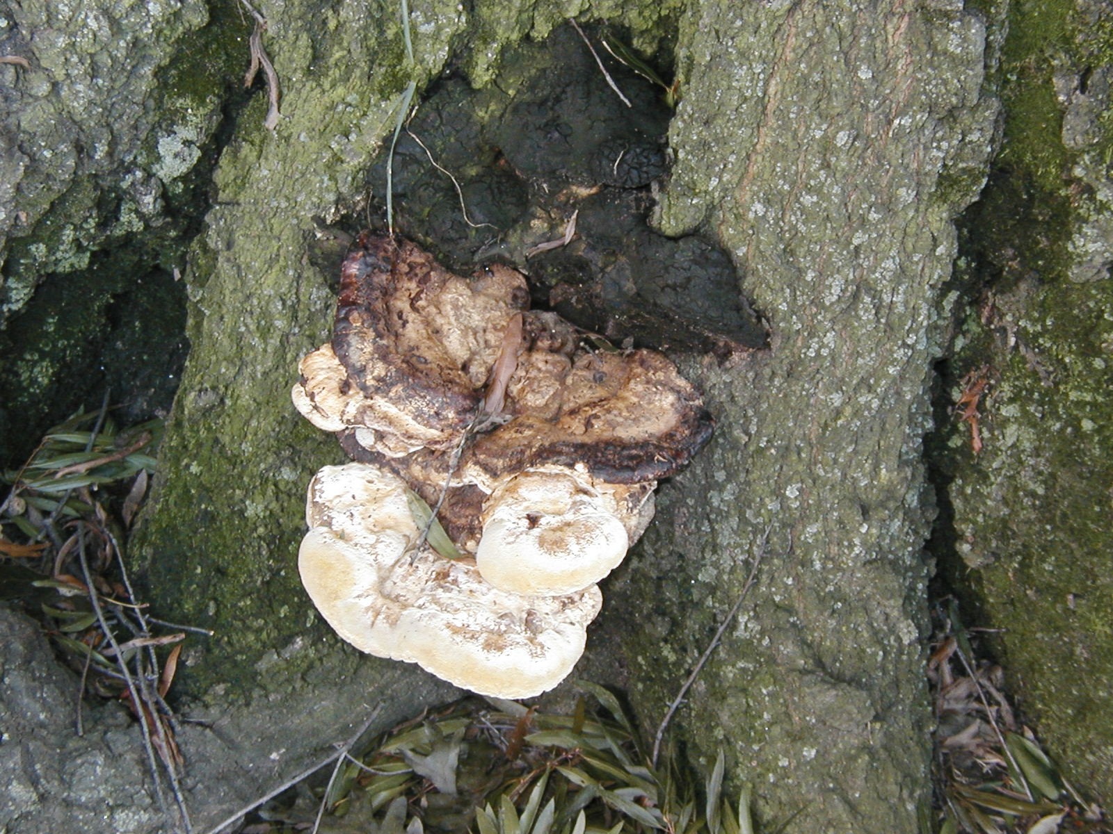
[[[571,671],[595,583],[712,428],[662,355],[593,348],[529,300],[509,267],[462,278],[365,234],[293,389],[352,458],[309,485],[298,567],[321,614],[361,651],[500,697]]]

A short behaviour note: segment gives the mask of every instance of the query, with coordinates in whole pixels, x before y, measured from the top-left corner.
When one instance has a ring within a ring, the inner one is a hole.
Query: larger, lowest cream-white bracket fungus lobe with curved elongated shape
[[[418,664],[481,695],[524,698],[559,684],[583,653],[602,597],[500,590],[471,559],[413,547],[405,484],[367,464],[326,466],[309,484],[302,582],[362,652]]]

